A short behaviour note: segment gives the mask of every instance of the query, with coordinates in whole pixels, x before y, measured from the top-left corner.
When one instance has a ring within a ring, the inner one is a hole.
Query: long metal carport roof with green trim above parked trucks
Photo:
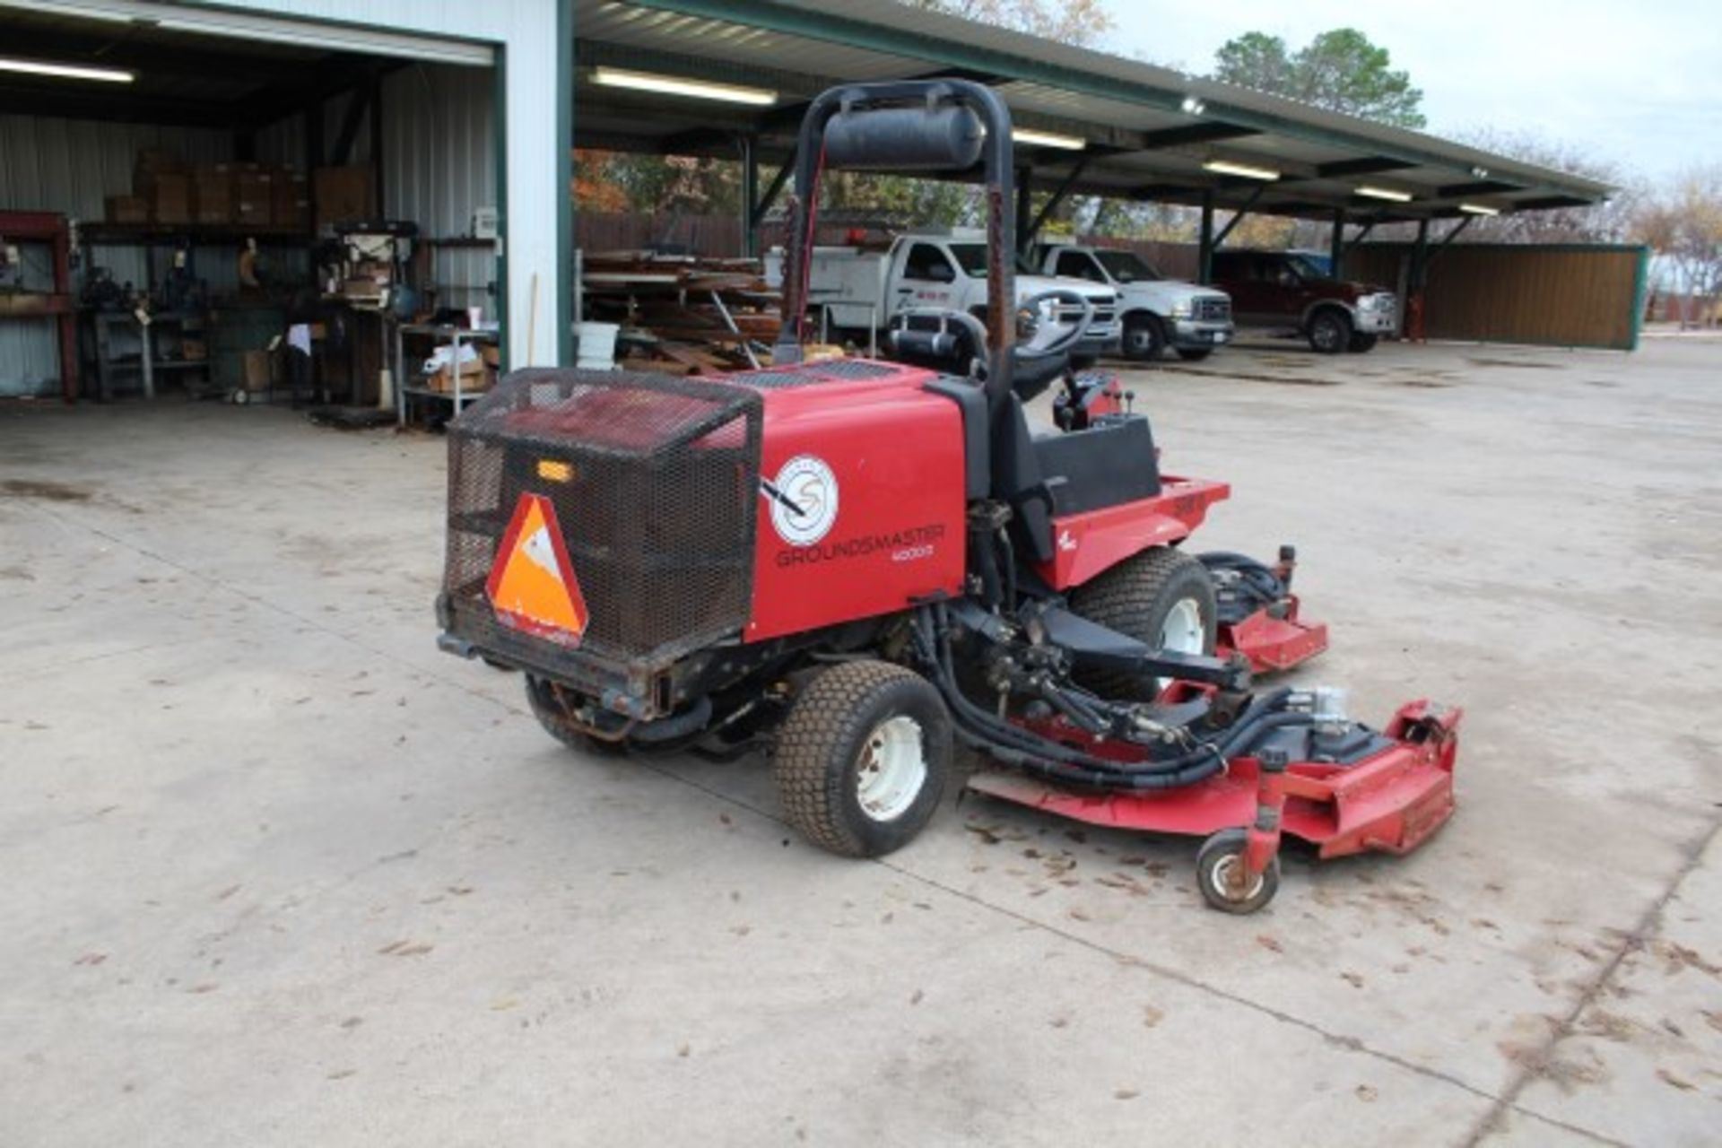
[[[1019,127],[1088,141],[1085,151],[1019,146],[1037,188],[1128,200],[1376,222],[1581,207],[1614,188],[1424,133],[975,24],[894,0],[575,0],[575,143],[589,148],[782,158],[802,103],[840,83],[963,76],[1004,95]],[[747,108],[629,93],[594,67],[763,86]],[[1204,169],[1230,160],[1279,172],[1264,182]],[[1409,193],[1407,203],[1357,194]]]

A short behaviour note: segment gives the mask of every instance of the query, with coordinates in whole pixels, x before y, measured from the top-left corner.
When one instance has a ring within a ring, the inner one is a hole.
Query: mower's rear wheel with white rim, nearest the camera
[[[883,661],[821,670],[777,733],[790,824],[844,857],[882,857],[933,816],[951,771],[951,718],[926,678]]]

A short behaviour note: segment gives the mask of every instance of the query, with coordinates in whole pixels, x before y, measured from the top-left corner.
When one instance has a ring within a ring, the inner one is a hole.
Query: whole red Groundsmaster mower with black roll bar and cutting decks
[[[894,361],[804,363],[823,170],[976,165],[985,322],[911,306]],[[913,838],[954,742],[985,793],[1205,836],[1199,888],[1231,912],[1274,895],[1283,831],[1414,849],[1453,807],[1457,711],[1372,730],[1336,690],[1252,687],[1326,644],[1292,556],[1178,549],[1228,489],[1162,475],[1149,420],[1069,372],[1087,299],[1018,306],[1011,174],[978,84],[815,100],[770,368],[523,370],[455,422],[443,647],[523,670],[570,745],[766,752],[789,821],[837,854]],[[1023,404],[1054,384],[1035,434]]]

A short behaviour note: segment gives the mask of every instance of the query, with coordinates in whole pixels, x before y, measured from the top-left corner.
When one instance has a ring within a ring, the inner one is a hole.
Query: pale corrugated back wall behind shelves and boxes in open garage
[[[189,164],[232,158],[232,138],[220,131],[0,115],[0,207],[98,220],[105,196],[131,191],[138,148],[169,148]],[[141,248],[95,248],[84,262],[110,268],[121,282],[148,279]],[[24,244],[24,263],[28,286],[52,287],[45,244]],[[236,282],[232,256],[219,251],[200,253],[198,274],[212,287]],[[52,394],[59,379],[53,320],[0,322],[0,396]]]

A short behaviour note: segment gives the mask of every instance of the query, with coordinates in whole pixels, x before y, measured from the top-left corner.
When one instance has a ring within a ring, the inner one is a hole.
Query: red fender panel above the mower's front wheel
[[[1207,508],[1230,494],[1224,482],[1164,477],[1161,492],[1150,499],[1054,518],[1057,552],[1037,573],[1054,590],[1081,585],[1131,554],[1190,537],[1207,518]]]

